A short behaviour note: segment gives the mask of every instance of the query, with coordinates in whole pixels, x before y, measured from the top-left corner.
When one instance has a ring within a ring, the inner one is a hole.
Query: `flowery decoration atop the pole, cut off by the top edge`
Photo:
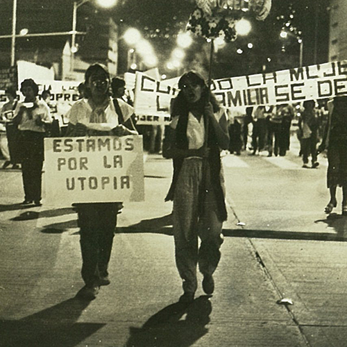
[[[269,15],[271,0],[196,0],[187,30],[207,39],[223,38],[226,42],[235,41],[235,24],[246,12],[253,13],[257,20]]]

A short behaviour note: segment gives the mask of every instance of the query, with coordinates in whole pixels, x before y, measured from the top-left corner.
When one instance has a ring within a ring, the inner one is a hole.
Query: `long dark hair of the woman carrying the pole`
[[[189,112],[189,105],[182,90],[185,83],[188,82],[201,85],[202,87],[201,98],[196,103],[196,106],[200,112],[203,112],[203,109],[205,108],[205,105],[208,101],[212,103],[214,112],[217,112],[219,110],[218,101],[215,98],[214,94],[212,94],[212,92],[210,91],[210,88],[208,87],[203,77],[195,71],[188,71],[183,74],[178,81],[178,88],[180,88],[180,92],[171,104],[171,115],[173,117],[177,115],[185,115]]]

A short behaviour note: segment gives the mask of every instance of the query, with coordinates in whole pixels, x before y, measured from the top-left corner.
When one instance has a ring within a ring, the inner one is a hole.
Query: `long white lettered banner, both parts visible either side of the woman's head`
[[[175,81],[175,82],[174,82]],[[178,94],[176,81],[155,81],[137,73],[135,113],[163,115]],[[271,73],[220,78],[211,90],[226,108],[299,103],[347,94],[347,60]]]

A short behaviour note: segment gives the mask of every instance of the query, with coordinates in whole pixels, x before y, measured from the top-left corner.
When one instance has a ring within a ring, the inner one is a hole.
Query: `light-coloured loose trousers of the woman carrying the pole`
[[[206,166],[208,191],[203,215],[198,217],[199,192],[203,182],[202,158],[186,158],[180,169],[174,192],[174,239],[176,266],[183,280],[183,290],[194,293],[197,288],[196,266],[212,275],[221,258],[223,222],[217,217],[216,196],[212,190],[210,167]],[[216,179],[216,178],[214,178]],[[200,247],[198,237],[201,239]]]

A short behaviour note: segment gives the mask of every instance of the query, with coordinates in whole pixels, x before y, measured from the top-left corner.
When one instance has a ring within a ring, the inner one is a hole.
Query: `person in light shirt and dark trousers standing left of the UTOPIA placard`
[[[18,103],[13,123],[20,131],[24,205],[41,205],[44,135],[52,118],[47,104],[37,98],[39,87],[33,79],[21,83],[24,102]]]

